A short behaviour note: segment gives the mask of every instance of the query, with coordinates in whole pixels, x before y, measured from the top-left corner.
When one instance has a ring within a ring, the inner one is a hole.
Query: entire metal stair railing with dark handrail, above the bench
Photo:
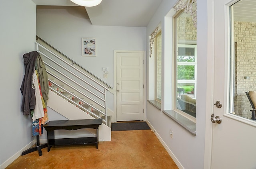
[[[49,82],[55,86],[58,86],[58,88],[61,88],[71,96],[77,98],[83,104],[90,106],[99,114],[95,114],[81,104],[76,103],[74,100],[55,90],[53,87],[49,86],[49,88],[94,118],[102,118],[102,116],[104,116],[105,119],[102,121],[107,125],[108,116],[106,95],[107,91],[109,90],[108,88],[112,87],[106,85],[106,83],[102,83],[102,81],[100,81],[98,78],[94,78],[94,75],[86,71],[86,69],[76,64],[74,61],[54,49],[42,39],[40,40],[43,43],[41,44],[37,41],[36,50],[38,53],[40,53],[46,65]],[[46,43],[46,45],[44,43]],[[50,80],[50,78],[53,78],[54,80]],[[62,86],[62,84],[64,86]],[[72,92],[76,92],[76,94]],[[82,97],[85,97],[86,99]],[[103,110],[100,110],[101,108]]]

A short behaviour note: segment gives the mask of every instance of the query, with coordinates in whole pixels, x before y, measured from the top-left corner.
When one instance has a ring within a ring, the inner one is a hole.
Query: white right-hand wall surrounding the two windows
[[[162,23],[162,41],[169,44],[164,44],[164,47],[172,46],[171,41],[166,38],[172,38],[170,33],[165,31],[170,31],[170,29],[165,30],[165,26],[169,26],[167,23],[168,18],[164,18],[167,13],[173,8],[177,0],[163,0],[162,4],[158,8],[154,17],[150,21],[147,27],[147,37],[150,36],[152,31],[156,28],[159,23]],[[158,110],[150,103],[147,102],[147,120],[154,127],[156,134],[161,138],[166,145],[167,149],[173,154],[179,167],[184,167],[185,169],[202,169],[204,168],[204,139],[205,139],[205,119],[206,119],[206,63],[207,63],[207,2],[205,0],[197,0],[197,49],[198,49],[198,68],[197,68],[197,109],[196,109],[196,136],[193,136],[182,128],[179,124],[168,118],[162,111]],[[169,37],[163,36],[169,35]],[[149,43],[147,41],[147,43]],[[164,63],[162,71],[162,83],[169,82],[172,78],[170,67],[172,66],[170,58],[170,49],[164,48],[163,59],[170,63],[169,67]],[[149,55],[149,49],[147,49]],[[147,56],[147,64],[152,63],[152,58]],[[152,72],[150,67],[147,71]],[[149,77],[149,75],[148,75]],[[147,86],[150,83],[147,84]],[[166,86],[163,85],[164,90],[162,98],[166,98],[169,101],[169,96],[171,96],[171,91]],[[163,90],[162,88],[162,90]],[[169,86],[170,88],[170,86]],[[170,106],[162,105],[162,108],[168,108]],[[167,103],[168,104],[168,103]],[[169,103],[171,105],[171,102]],[[210,122],[209,122],[210,123]],[[173,139],[170,137],[170,129],[174,132]]]

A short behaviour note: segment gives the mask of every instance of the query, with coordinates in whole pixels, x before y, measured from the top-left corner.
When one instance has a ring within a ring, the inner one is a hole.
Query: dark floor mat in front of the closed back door
[[[150,127],[146,122],[121,122],[111,124],[111,131],[125,130],[150,130]]]

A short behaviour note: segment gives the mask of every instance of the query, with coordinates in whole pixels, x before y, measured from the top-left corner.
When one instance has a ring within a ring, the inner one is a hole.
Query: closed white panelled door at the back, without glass
[[[144,52],[116,53],[116,120],[143,120]]]

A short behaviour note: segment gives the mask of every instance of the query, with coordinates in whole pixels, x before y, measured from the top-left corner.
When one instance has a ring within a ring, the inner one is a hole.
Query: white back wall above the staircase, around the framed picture
[[[36,35],[114,87],[114,50],[146,50],[146,28],[92,26],[83,7],[38,7]],[[82,56],[82,37],[96,38],[96,57]],[[109,68],[108,79],[102,67]]]

